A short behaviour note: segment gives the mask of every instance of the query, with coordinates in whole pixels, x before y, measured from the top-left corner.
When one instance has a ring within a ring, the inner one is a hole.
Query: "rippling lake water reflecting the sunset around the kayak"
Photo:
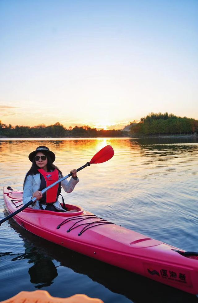
[[[110,222],[184,250],[198,251],[198,140],[130,138],[0,139],[0,218],[3,186],[22,191],[31,166],[28,154],[46,145],[67,175],[105,145],[108,162],[80,171],[69,204]],[[0,301],[20,291],[47,290],[51,296],[84,293],[105,303],[198,302],[196,296],[80,255],[45,241],[13,219],[0,227]]]

